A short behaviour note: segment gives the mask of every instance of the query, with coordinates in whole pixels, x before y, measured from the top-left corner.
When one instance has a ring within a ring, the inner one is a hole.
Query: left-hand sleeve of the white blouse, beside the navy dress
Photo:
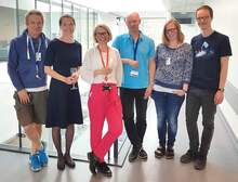
[[[82,79],[91,84],[94,80],[94,70],[93,70],[93,65],[92,65],[92,56],[90,52],[88,51],[84,55],[84,60],[82,62],[82,67],[81,67],[81,76]]]

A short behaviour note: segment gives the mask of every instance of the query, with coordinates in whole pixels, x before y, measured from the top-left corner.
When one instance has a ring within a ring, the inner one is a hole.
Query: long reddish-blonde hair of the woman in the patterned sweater
[[[164,24],[164,26],[163,26],[163,31],[162,31],[162,43],[163,44],[166,44],[166,46],[168,46],[169,44],[169,39],[168,39],[168,37],[167,37],[167,25],[169,25],[169,24],[173,24],[173,25],[175,25],[175,27],[176,27],[176,30],[177,30],[177,40],[178,40],[178,42],[180,43],[183,43],[184,42],[184,34],[182,32],[182,30],[181,30],[181,25],[180,25],[180,23],[175,20],[175,18],[171,18],[171,20],[169,20],[166,24]]]

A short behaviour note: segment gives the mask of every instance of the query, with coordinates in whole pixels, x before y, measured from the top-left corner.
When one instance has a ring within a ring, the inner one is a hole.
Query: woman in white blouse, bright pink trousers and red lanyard
[[[88,106],[92,152],[88,153],[88,158],[93,174],[100,172],[111,177],[104,157],[122,132],[122,109],[118,95],[122,63],[119,52],[107,46],[113,36],[106,25],[97,25],[93,37],[97,46],[88,50],[82,64],[82,79],[91,84]],[[103,135],[105,120],[108,130]]]

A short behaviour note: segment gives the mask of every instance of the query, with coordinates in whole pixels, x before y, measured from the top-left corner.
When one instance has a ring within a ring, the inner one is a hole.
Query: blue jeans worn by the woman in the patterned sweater
[[[177,116],[184,96],[154,91],[153,99],[156,104],[159,144],[161,147],[166,147],[167,144],[167,147],[172,148],[177,132]]]

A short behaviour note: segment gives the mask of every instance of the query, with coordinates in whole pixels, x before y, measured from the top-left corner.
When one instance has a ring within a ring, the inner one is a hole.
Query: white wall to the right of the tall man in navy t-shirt
[[[228,80],[238,89],[237,73],[238,73],[238,1],[237,0],[207,0],[206,3],[211,5],[214,11],[213,27],[215,30],[223,32],[229,37],[233,56],[229,61]],[[221,104],[224,116],[238,139],[238,115],[225,100]]]

